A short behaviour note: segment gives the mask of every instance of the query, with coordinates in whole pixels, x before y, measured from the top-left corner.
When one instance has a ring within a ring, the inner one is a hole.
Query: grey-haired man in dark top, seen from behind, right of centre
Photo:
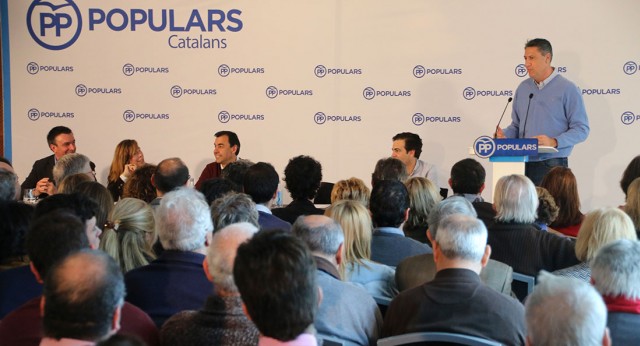
[[[491,255],[484,223],[452,215],[440,221],[433,240],[436,277],[391,302],[383,336],[449,332],[524,345],[522,304],[480,281],[480,270]]]

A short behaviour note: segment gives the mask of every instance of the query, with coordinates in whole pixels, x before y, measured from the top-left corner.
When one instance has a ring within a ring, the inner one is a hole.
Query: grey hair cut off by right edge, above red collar
[[[640,298],[640,243],[616,240],[602,247],[590,263],[593,285],[604,296]]]

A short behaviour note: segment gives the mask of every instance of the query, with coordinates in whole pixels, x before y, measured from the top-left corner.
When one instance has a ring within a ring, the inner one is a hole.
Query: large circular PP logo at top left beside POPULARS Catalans
[[[71,46],[82,31],[80,9],[73,0],[54,5],[48,0],[34,0],[27,10],[27,29],[34,41],[50,50]]]

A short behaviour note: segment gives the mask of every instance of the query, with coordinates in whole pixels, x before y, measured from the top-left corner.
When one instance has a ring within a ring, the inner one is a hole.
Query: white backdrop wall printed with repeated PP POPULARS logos
[[[446,186],[451,165],[492,133],[525,78],[517,66],[535,37],[551,41],[553,65],[585,93],[591,134],[569,159],[583,209],[623,203],[618,181],[640,153],[635,0],[50,3],[2,0],[5,147],[21,177],[50,155],[45,136],[56,125],[73,129],[101,182],[126,138],[148,162],[181,157],[197,178],[223,129],[240,136],[242,158],[281,175],[289,158],[308,154],[324,181],[368,182],[391,137],[410,131]],[[163,18],[164,28],[150,28]],[[172,47],[187,37],[214,47]],[[419,65],[427,73],[416,76]]]

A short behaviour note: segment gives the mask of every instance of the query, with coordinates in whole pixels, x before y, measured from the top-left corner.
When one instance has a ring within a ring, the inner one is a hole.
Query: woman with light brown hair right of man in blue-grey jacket
[[[427,218],[433,208],[440,203],[442,197],[439,189],[427,178],[413,177],[404,185],[409,191],[409,218],[404,223],[404,234],[421,243],[429,244],[427,239]]]

